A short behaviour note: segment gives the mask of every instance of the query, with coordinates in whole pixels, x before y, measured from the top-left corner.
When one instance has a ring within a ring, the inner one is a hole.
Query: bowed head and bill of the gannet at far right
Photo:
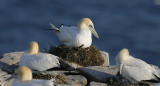
[[[120,74],[122,71],[123,64],[124,64],[125,60],[128,59],[128,56],[129,56],[129,52],[128,52],[128,49],[126,49],[126,48],[122,49],[118,53],[118,55],[116,56],[116,63],[119,67]]]

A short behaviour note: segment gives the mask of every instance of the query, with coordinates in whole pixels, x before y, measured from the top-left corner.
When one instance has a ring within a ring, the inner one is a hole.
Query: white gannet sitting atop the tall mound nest
[[[59,40],[66,46],[83,48],[90,47],[92,44],[92,33],[99,38],[94,29],[93,22],[89,18],[82,18],[76,26],[61,26],[59,29],[50,23],[56,32]],[[92,32],[92,33],[91,33]]]

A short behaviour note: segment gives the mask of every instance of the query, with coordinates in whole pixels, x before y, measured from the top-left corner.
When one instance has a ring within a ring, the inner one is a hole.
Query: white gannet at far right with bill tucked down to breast
[[[120,74],[132,83],[148,80],[159,81],[160,69],[130,56],[127,49],[122,49],[115,60]]]

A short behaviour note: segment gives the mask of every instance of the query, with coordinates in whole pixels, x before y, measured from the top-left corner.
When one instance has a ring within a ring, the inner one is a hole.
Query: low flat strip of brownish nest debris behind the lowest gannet
[[[49,74],[41,74],[41,73],[35,74],[34,73],[33,78],[34,79],[45,79],[45,80],[50,80],[50,79],[54,78],[55,84],[67,84],[67,80],[62,75],[53,76],[53,75],[49,75]]]

